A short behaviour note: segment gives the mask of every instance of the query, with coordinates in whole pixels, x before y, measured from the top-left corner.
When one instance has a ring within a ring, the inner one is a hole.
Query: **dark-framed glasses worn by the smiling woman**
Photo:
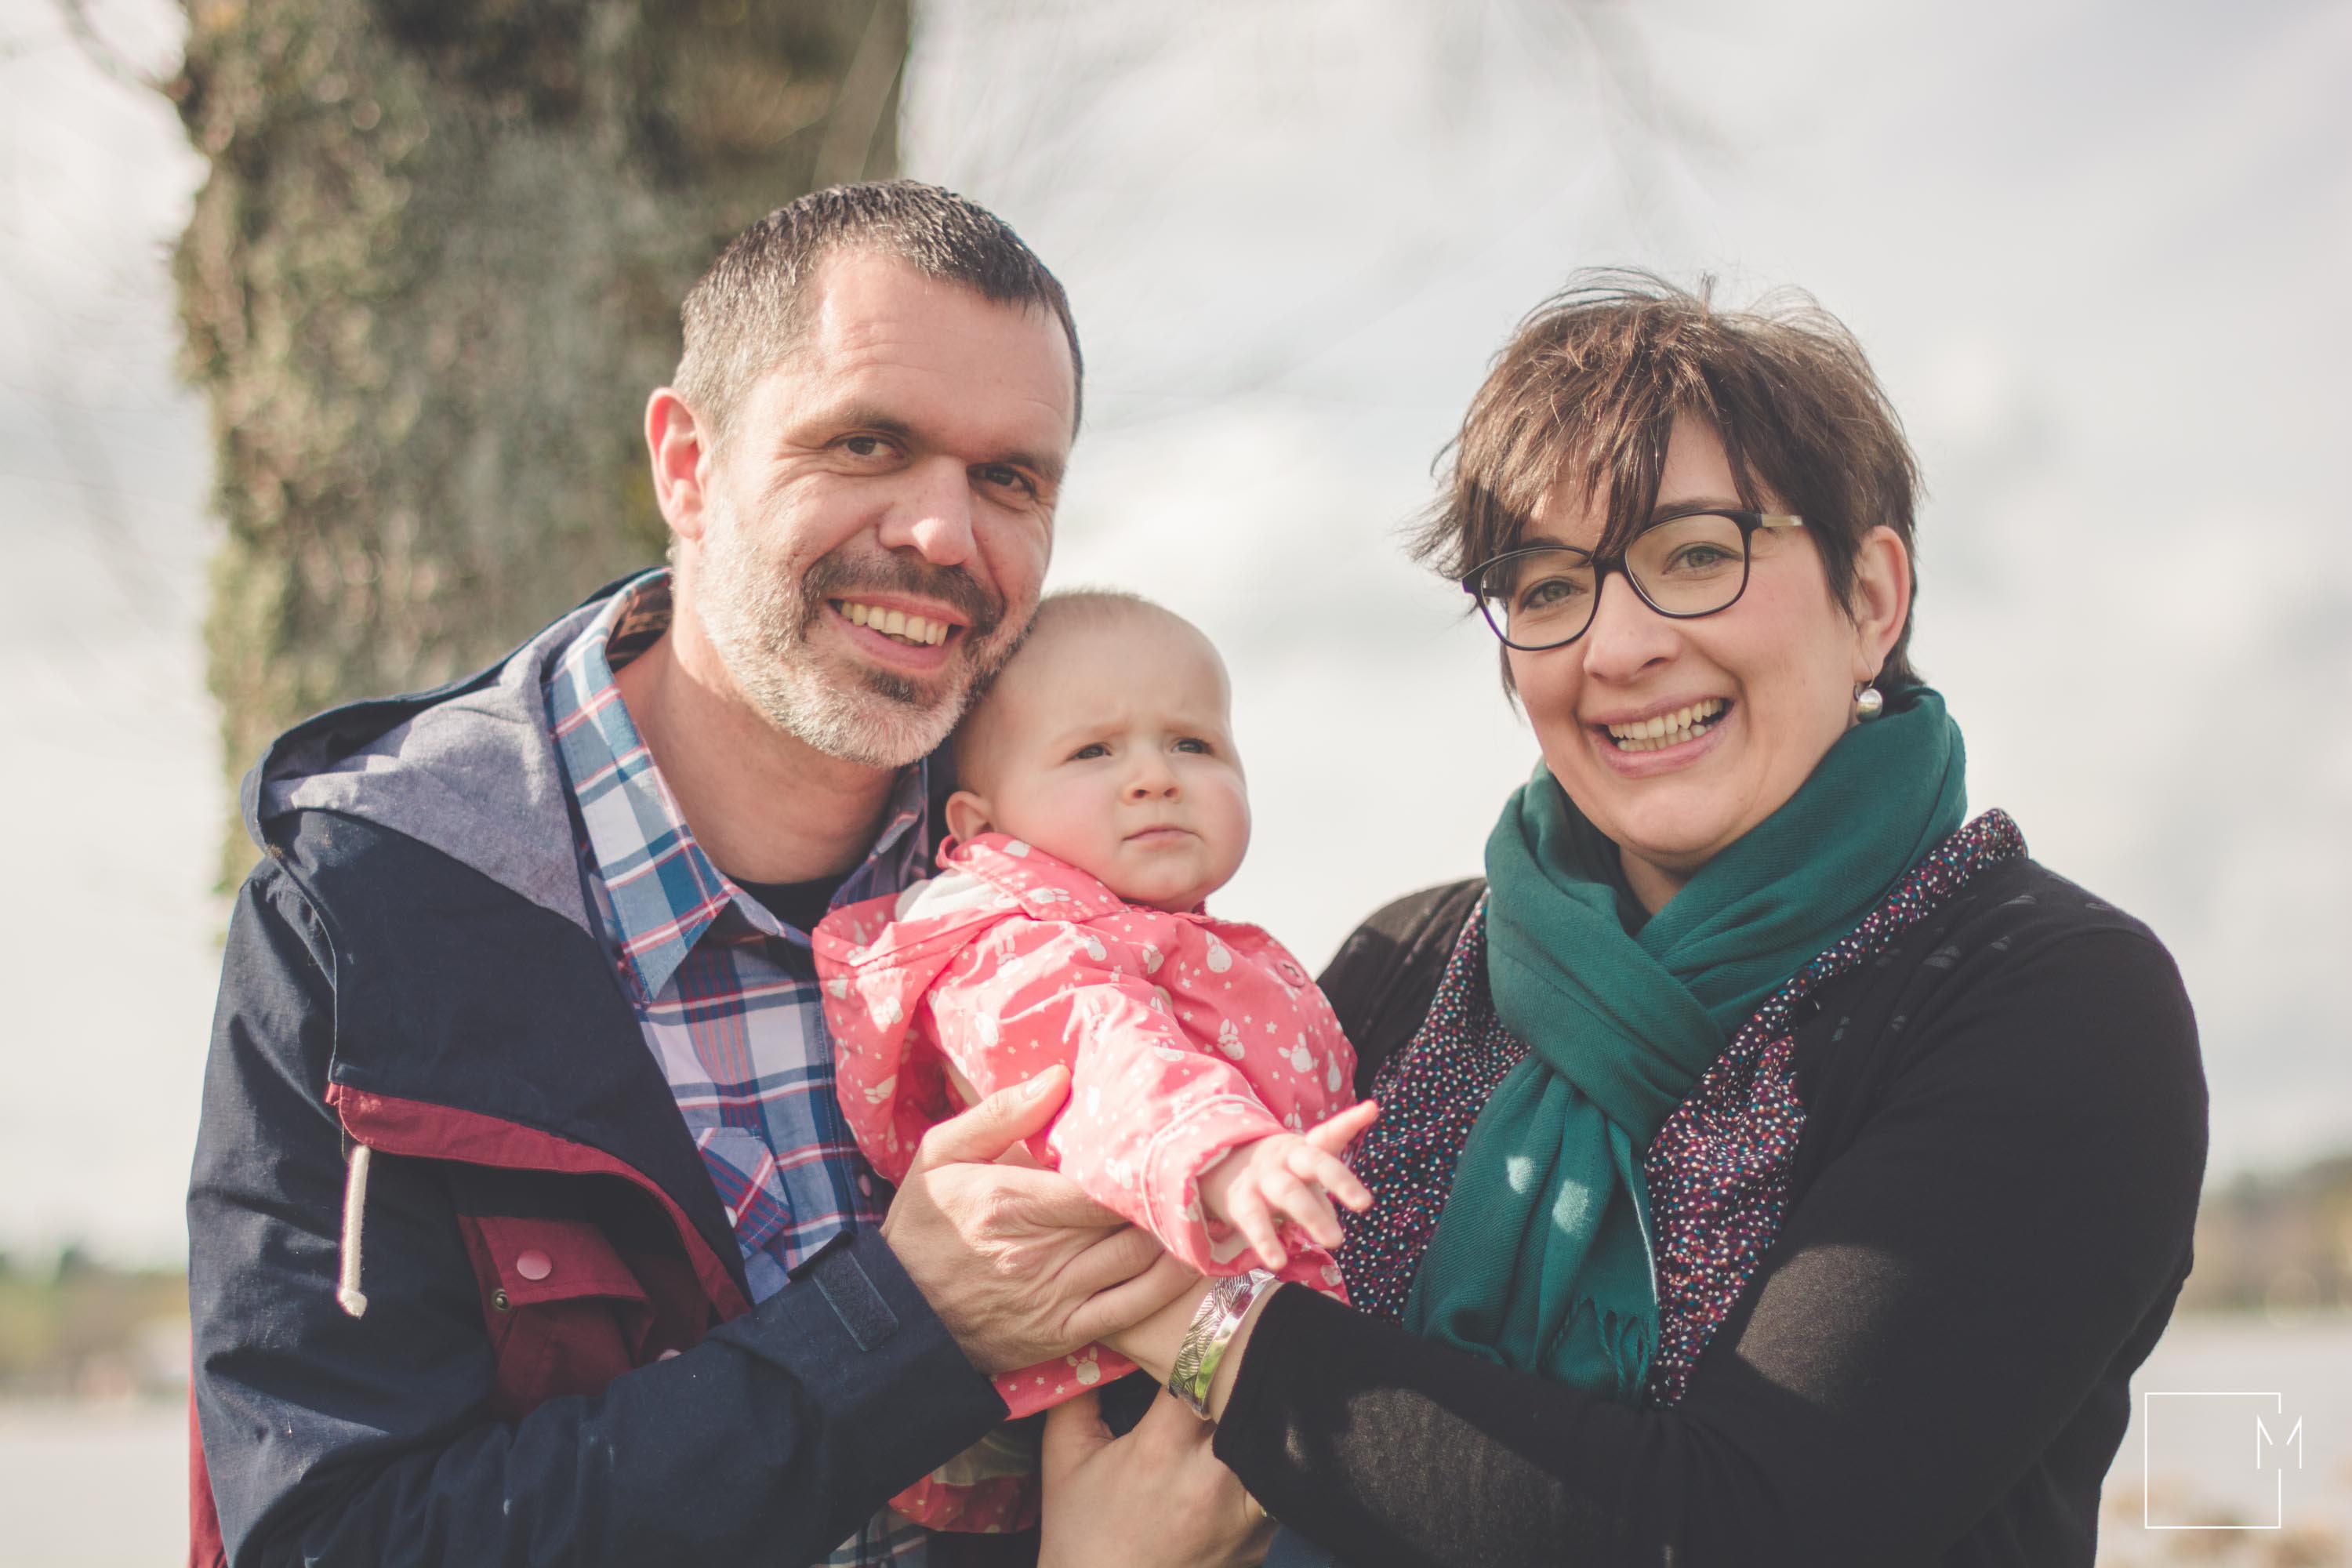
[[[1463,578],[1503,646],[1541,654],[1576,642],[1592,625],[1602,578],[1625,581],[1661,616],[1693,621],[1738,604],[1748,592],[1757,529],[1802,529],[1792,512],[1679,512],[1661,517],[1618,555],[1576,545],[1505,550]]]

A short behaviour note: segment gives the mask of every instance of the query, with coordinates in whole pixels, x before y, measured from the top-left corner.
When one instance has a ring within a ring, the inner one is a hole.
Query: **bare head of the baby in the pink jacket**
[[[1249,788],[1225,668],[1190,625],[1122,614],[1056,628],[988,708],[971,780],[988,827],[1157,910],[1197,907],[1242,865]]]

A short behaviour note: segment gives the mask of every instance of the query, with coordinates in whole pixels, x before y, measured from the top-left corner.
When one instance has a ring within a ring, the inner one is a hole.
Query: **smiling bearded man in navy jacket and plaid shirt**
[[[198,1561],[920,1561],[880,1505],[1002,1418],[988,1373],[1183,1279],[985,1164],[1058,1074],[943,1126],[884,1220],[807,943],[927,875],[924,757],[1037,602],[1061,284],[943,190],[823,190],[694,289],[675,381],[673,571],[247,778],[188,1199]]]

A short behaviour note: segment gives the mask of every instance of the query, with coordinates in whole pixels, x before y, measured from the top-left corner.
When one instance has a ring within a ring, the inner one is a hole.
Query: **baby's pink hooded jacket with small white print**
[[[1258,1267],[1240,1232],[1209,1234],[1200,1175],[1355,1103],[1355,1048],[1298,959],[1256,926],[1124,903],[1000,832],[938,863],[816,929],[835,1086],[866,1159],[903,1180],[922,1133],[962,1110],[943,1060],[983,1095],[1065,1063],[1070,1100],[1030,1152],[1202,1274]],[[1338,1295],[1338,1265],[1298,1241],[1282,1276]],[[1025,1415],[1124,1371],[1089,1347],[997,1387]]]

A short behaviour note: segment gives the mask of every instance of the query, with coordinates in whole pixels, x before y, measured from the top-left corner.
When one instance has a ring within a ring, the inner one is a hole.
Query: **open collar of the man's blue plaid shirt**
[[[604,891],[600,903],[621,966],[644,999],[663,992],[694,943],[729,910],[764,936],[809,940],[710,863],[628,717],[614,670],[659,642],[668,625],[670,574],[652,571],[612,597],[548,677],[548,722],[579,809],[583,860]],[[929,795],[929,759],[898,771],[882,830],[835,903],[896,893],[924,872]]]

